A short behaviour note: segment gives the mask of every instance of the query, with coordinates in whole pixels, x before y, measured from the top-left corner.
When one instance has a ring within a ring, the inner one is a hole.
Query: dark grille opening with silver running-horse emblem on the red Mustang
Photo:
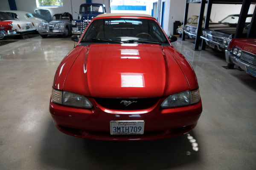
[[[114,110],[141,110],[147,109],[159,102],[159,98],[111,99],[95,98],[95,101],[104,108]]]

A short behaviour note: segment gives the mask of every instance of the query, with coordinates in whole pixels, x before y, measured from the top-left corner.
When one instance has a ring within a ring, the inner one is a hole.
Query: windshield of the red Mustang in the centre
[[[85,31],[81,42],[96,39],[121,43],[169,44],[156,21],[135,18],[94,20]]]

